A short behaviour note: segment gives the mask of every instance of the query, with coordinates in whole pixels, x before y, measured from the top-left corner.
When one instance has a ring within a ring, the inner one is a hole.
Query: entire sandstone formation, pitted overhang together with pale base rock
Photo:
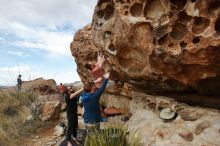
[[[220,94],[219,0],[98,0],[92,24],[71,43],[82,82],[99,51],[119,83],[110,82],[101,102],[131,113],[128,129],[144,145],[220,145],[220,112],[178,102],[220,108],[218,97],[187,94]],[[167,92],[175,98],[157,96]],[[161,119],[173,105],[177,118]]]

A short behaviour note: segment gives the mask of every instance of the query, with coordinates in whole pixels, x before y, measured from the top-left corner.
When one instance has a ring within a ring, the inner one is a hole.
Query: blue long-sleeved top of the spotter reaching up
[[[84,122],[85,123],[99,123],[102,120],[99,99],[104,92],[108,79],[105,79],[102,86],[95,93],[84,92],[82,95],[82,103],[85,109]]]

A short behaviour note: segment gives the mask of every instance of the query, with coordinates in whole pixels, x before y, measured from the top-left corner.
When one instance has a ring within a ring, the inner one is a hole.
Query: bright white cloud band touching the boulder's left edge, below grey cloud
[[[48,51],[50,54],[69,55],[73,35],[65,32],[54,32],[47,29],[32,29],[24,24],[12,23],[8,30],[19,40],[10,40],[8,45]],[[47,54],[47,53],[45,53]]]

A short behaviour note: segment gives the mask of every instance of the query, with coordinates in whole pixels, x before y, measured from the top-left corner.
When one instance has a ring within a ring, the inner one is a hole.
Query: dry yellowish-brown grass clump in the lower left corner
[[[36,99],[31,91],[0,91],[0,145],[18,145],[25,130],[24,119],[30,115],[29,105]],[[31,127],[36,127],[33,125]],[[29,125],[30,125],[29,124]],[[31,131],[30,126],[29,131]],[[30,134],[29,132],[27,132]]]

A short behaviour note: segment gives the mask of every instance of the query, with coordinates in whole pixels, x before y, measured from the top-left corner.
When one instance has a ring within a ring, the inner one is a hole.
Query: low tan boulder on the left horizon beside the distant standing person
[[[22,90],[31,90],[39,94],[52,94],[57,92],[56,82],[53,79],[45,80],[38,78],[32,81],[25,81],[22,84]]]

